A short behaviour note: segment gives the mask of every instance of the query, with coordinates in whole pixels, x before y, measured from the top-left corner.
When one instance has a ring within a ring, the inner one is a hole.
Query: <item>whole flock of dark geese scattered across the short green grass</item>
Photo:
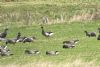
[[[54,33],[53,32],[47,32],[44,30],[44,27],[41,26],[41,33],[43,36],[45,37],[51,37]],[[6,38],[7,36],[7,31],[8,29],[6,28],[3,32],[0,33],[0,41],[4,42],[4,44],[6,45],[1,45],[0,46],[0,56],[10,56],[10,55],[14,55],[10,52],[10,49],[7,48],[7,44],[16,44],[17,42],[33,42],[34,40],[36,40],[36,37],[32,36],[32,37],[22,37],[21,33],[18,32],[15,38],[12,39],[8,39]],[[98,28],[99,31],[99,35],[97,37],[97,40],[100,40],[100,28]],[[88,37],[96,37],[96,33],[95,32],[88,32],[88,31],[84,31],[86,36]],[[76,43],[78,43],[78,39],[77,40],[67,40],[67,41],[63,41],[63,46],[62,48],[66,49],[66,48],[73,48],[75,47]],[[25,54],[39,54],[40,51],[39,50],[28,50],[26,49]],[[46,51],[45,53],[46,55],[58,55],[59,51]]]

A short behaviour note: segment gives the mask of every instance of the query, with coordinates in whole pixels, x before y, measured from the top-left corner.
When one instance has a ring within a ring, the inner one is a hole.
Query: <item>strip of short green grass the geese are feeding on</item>
[[[70,62],[75,59],[90,62],[95,60],[100,64],[100,41],[96,38],[88,38],[85,36],[84,30],[95,31],[98,34],[97,28],[99,21],[82,23],[73,22],[71,24],[62,23],[54,25],[44,25],[46,31],[54,32],[50,38],[46,38],[41,34],[40,25],[9,27],[7,38],[13,38],[17,32],[21,32],[22,36],[36,36],[36,41],[33,43],[16,43],[16,45],[8,44],[13,56],[0,57],[0,64],[26,64],[31,62],[47,61],[47,62]],[[0,28],[2,31],[4,27]],[[79,43],[73,49],[63,49],[62,42],[64,40],[79,39]],[[3,43],[1,42],[1,45]],[[41,53],[39,55],[26,55],[25,49],[37,49]],[[58,50],[57,56],[47,56],[46,51]]]

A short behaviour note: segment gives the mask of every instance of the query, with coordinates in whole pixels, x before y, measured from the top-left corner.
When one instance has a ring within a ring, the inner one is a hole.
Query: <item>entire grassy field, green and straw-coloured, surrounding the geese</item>
[[[43,17],[48,18],[46,24]],[[100,41],[84,33],[95,31],[98,35],[99,19],[100,0],[0,0],[0,31],[9,28],[7,38],[14,38],[19,31],[23,36],[37,38],[33,43],[8,44],[14,55],[0,57],[0,67],[99,67]],[[54,35],[44,37],[41,24]],[[72,39],[79,39],[76,47],[63,49],[62,42]],[[26,55],[25,49],[41,53]],[[50,50],[60,54],[45,55]]]

